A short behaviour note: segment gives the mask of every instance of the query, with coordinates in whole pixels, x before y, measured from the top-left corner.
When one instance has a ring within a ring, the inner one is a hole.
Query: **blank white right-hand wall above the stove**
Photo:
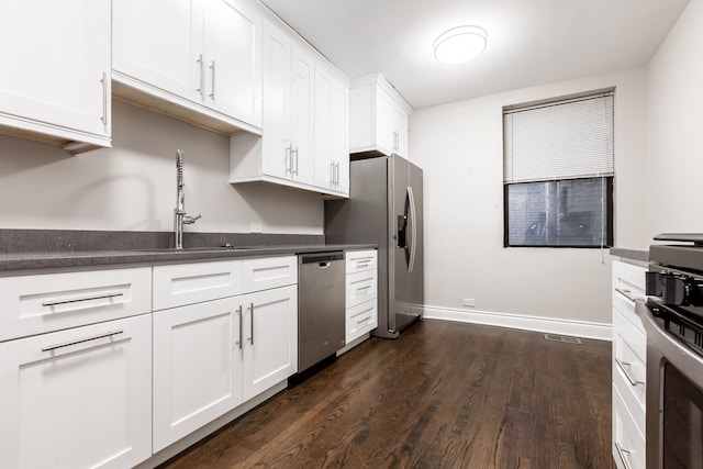
[[[703,2],[691,1],[647,68],[647,237],[703,233]]]

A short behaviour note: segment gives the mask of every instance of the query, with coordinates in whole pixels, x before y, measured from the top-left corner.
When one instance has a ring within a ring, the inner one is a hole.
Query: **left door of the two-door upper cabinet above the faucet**
[[[112,14],[115,71],[181,98],[202,100],[199,1],[113,0]]]

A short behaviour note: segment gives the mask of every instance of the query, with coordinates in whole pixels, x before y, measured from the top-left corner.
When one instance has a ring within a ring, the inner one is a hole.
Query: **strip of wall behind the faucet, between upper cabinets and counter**
[[[176,149],[185,152],[186,210],[193,232],[322,234],[319,194],[232,186],[228,137],[120,101],[113,147],[70,156],[60,147],[0,136],[3,228],[170,231]]]

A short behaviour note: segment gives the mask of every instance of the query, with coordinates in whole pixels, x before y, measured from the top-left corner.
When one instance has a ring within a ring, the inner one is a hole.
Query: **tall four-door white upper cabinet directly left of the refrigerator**
[[[348,197],[348,80],[294,33],[264,21],[263,135],[230,141],[230,182]]]

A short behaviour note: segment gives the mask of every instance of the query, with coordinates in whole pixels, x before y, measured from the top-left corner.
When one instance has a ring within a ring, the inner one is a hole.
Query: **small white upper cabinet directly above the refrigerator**
[[[350,90],[350,153],[408,157],[410,104],[380,74],[355,79]]]

